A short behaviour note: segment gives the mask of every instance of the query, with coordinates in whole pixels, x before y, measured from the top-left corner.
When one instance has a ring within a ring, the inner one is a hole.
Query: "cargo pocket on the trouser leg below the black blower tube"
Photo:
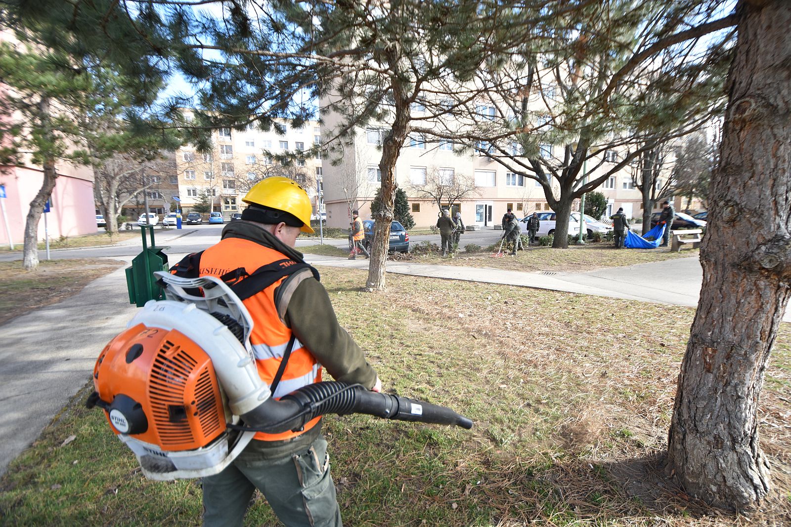
[[[327,442],[317,439],[313,446],[304,454],[293,456],[297,465],[301,484],[302,500],[310,525],[324,523],[331,518],[338,507],[335,498],[335,486],[330,476],[330,456],[327,454]]]

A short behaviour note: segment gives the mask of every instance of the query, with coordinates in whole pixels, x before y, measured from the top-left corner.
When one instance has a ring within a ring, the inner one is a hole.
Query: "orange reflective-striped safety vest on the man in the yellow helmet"
[[[248,239],[225,238],[220,243],[203,251],[200,257],[200,275],[221,277],[239,267],[244,267],[248,273],[254,273],[255,269],[259,269],[262,265],[277,262],[283,258],[286,256],[277,250],[263,247],[263,245]],[[243,301],[253,320],[250,344],[252,344],[255,354],[255,366],[258,367],[258,373],[263,382],[269,385],[280,367],[292,334],[291,329],[280,319],[277,307],[274,305],[274,291],[282,284],[283,280],[286,280],[286,277],[277,280],[262,292]],[[296,339],[291,356],[286,363],[286,370],[283,372],[280,384],[274,390],[272,397],[282,397],[314,382],[321,382],[321,364]],[[302,431],[286,431],[280,434],[258,432],[255,434],[255,439],[262,441],[290,439],[315,427],[320,419],[321,416],[318,416],[308,421]]]

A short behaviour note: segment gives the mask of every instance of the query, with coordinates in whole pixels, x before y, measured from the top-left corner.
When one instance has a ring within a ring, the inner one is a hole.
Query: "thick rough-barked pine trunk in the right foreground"
[[[747,509],[770,488],[757,408],[791,278],[791,10],[786,0],[742,0],[736,9],[721,164],[668,469],[687,493]]]

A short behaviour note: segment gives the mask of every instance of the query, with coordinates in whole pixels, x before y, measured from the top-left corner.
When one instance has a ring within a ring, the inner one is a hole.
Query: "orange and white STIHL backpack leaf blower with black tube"
[[[105,346],[86,401],[104,410],[149,479],[216,474],[255,432],[299,431],[327,413],[472,427],[450,408],[345,382],[318,382],[275,400],[252,355],[252,318],[228,285],[154,274],[167,299],[146,303]]]

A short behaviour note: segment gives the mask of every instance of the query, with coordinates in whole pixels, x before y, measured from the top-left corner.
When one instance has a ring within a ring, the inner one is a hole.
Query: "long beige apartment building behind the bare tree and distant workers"
[[[371,201],[381,182],[380,145],[385,130],[376,126],[359,129],[354,145],[344,149],[340,163],[336,166],[327,164],[324,168],[324,203],[329,227],[348,227],[350,207],[358,208],[361,217],[370,217]],[[517,216],[550,210],[543,188],[534,179],[509,171],[486,155],[477,152],[460,154],[457,145],[450,142],[427,141],[431,140],[413,134],[395,165],[396,183],[407,191],[411,213],[418,227],[435,224],[439,209],[430,198],[418,197],[417,187],[430,186],[437,180],[460,179],[474,187],[464,198],[452,204],[453,212],[459,211],[467,225],[486,227],[500,224],[507,209],[513,209]],[[545,153],[552,154],[553,148],[560,147],[545,145],[542,148],[547,149]],[[561,155],[560,152],[557,155]],[[606,170],[607,164],[617,162],[616,154],[603,152],[602,155],[607,156],[607,160],[600,170]],[[607,197],[610,214],[623,207],[627,216],[642,215],[640,190],[634,186],[628,171],[619,171],[611,176],[598,190]]]

